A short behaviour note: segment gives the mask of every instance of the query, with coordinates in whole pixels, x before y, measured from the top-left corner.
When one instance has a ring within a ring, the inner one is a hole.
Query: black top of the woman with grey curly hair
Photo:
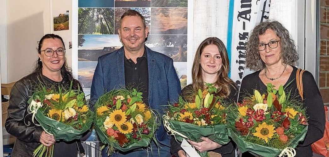
[[[286,93],[289,93],[291,91],[291,97],[297,97],[300,101],[302,101],[298,93],[296,72],[297,68],[293,66],[291,75],[283,87],[285,88]],[[259,90],[261,93],[266,92],[266,85],[259,78],[259,73],[260,71],[254,72],[242,79],[239,100],[242,100],[243,95],[245,93],[253,94],[254,89]],[[305,71],[303,73],[302,81],[304,96],[303,106],[307,108],[306,115],[309,117],[309,125],[304,141],[301,142],[295,149],[296,157],[311,157],[313,156],[311,144],[316,142],[323,136],[325,125],[324,106],[321,94],[316,85],[313,75],[310,72]]]

